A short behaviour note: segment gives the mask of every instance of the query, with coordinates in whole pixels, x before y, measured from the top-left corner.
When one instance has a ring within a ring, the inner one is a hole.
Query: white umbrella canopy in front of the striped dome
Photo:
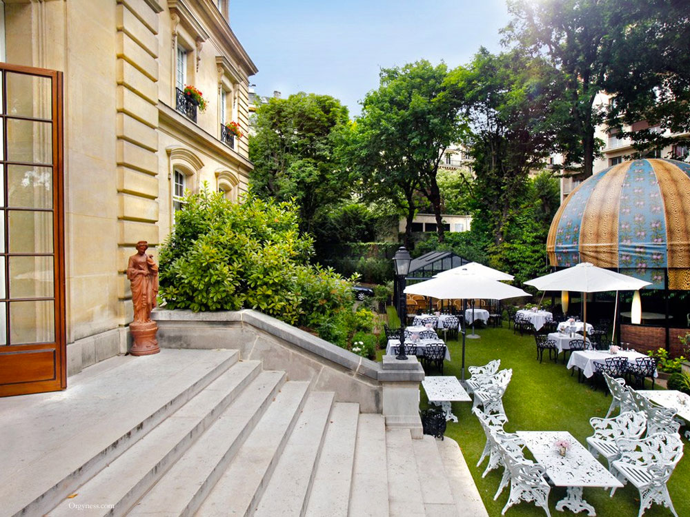
[[[604,270],[589,262],[582,262],[565,270],[533,278],[525,282],[540,291],[637,291],[650,282],[615,271]]]

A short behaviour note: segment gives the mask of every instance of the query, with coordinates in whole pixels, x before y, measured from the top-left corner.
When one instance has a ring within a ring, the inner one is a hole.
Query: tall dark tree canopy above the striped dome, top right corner
[[[553,124],[566,168],[591,176],[603,145],[595,128],[604,121],[620,128],[647,119],[688,130],[687,0],[509,0],[508,7],[506,42],[545,57],[560,72]],[[602,91],[615,103],[598,102]],[[660,140],[651,132],[627,136]]]

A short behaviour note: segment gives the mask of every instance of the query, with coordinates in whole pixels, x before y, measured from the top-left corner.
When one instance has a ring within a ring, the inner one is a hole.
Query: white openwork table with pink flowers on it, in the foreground
[[[566,487],[566,496],[556,503],[558,511],[567,508],[577,514],[584,510],[589,516],[594,517],[596,515],[594,507],[582,498],[582,489],[584,487],[609,489],[623,486],[569,432],[518,431],[517,436],[524,440],[534,459],[544,467],[551,483],[557,487]],[[565,456],[561,456],[553,445],[558,440],[567,440],[570,443],[570,449]]]

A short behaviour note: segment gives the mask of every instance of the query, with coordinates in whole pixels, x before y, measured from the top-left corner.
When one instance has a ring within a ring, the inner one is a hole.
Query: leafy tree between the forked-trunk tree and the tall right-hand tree
[[[499,247],[520,210],[530,170],[553,150],[553,74],[520,52],[494,55],[482,48],[449,79],[462,92],[471,125],[476,179],[466,186],[475,202],[473,227]]]

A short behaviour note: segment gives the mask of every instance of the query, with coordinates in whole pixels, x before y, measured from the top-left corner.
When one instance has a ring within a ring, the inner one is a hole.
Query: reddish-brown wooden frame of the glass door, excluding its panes
[[[15,72],[39,77],[49,77],[51,79],[51,120],[52,120],[52,216],[53,216],[53,258],[54,272],[53,296],[55,297],[55,377],[45,381],[21,382],[0,385],[0,396],[12,396],[39,392],[52,392],[67,387],[67,332],[66,332],[66,288],[65,288],[65,239],[64,239],[64,154],[63,154],[63,72],[48,70],[46,68],[34,68],[24,65],[11,65],[0,63],[0,72]],[[7,105],[7,81],[2,83],[3,99]],[[0,119],[5,119],[8,113],[3,113]],[[11,116],[14,119],[21,119],[21,116]],[[26,117],[32,119],[32,117]],[[7,150],[7,132],[3,134],[3,146]],[[4,176],[7,183],[8,156],[3,156],[1,161],[5,165]],[[11,161],[10,161],[11,162]],[[8,194],[6,194],[8,195]],[[10,222],[6,210],[5,234],[9,242]],[[6,259],[9,258],[9,248],[5,251]],[[8,267],[6,265],[6,267]],[[9,275],[6,277],[6,296],[8,296],[6,308],[6,321],[10,325],[10,292]],[[31,353],[32,351],[47,350],[48,346],[52,349],[52,344],[38,343],[32,345],[5,345],[2,352],[12,354],[12,346],[17,347],[17,354]]]

